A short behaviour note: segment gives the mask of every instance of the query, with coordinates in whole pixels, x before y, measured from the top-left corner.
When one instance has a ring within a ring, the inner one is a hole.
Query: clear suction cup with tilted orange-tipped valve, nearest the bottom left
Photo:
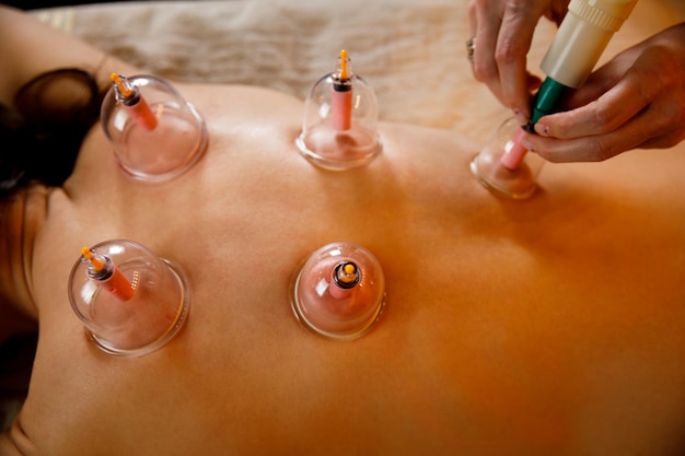
[[[69,300],[105,353],[140,356],[183,326],[190,300],[182,271],[131,241],[84,247],[69,278]]]

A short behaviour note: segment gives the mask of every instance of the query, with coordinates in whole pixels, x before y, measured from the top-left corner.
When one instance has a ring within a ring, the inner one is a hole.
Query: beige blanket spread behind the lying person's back
[[[36,14],[170,79],[255,84],[304,98],[347,48],[379,96],[382,119],[485,141],[509,116],[472,77],[465,0],[124,2]],[[603,58],[684,19],[681,0],[641,0]],[[533,71],[554,35],[544,22],[530,54]]]

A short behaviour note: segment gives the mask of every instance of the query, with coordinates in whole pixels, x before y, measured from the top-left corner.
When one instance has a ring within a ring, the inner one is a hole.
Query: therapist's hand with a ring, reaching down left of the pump
[[[476,38],[473,73],[487,84],[521,125],[531,115],[530,94],[541,81],[527,71],[526,55],[541,17],[557,25],[569,0],[469,0],[471,37]]]

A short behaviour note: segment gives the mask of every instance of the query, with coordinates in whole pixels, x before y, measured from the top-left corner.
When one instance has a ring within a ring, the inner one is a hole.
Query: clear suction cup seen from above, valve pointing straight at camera
[[[295,317],[314,334],[357,339],[373,327],[385,306],[381,265],[358,245],[325,245],[297,271],[291,305]]]

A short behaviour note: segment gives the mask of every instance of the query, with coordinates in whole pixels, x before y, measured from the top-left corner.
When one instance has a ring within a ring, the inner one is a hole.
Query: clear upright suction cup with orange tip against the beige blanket
[[[336,72],[320,79],[304,104],[297,145],[316,166],[344,171],[369,164],[382,150],[373,89],[351,71],[342,50]]]

